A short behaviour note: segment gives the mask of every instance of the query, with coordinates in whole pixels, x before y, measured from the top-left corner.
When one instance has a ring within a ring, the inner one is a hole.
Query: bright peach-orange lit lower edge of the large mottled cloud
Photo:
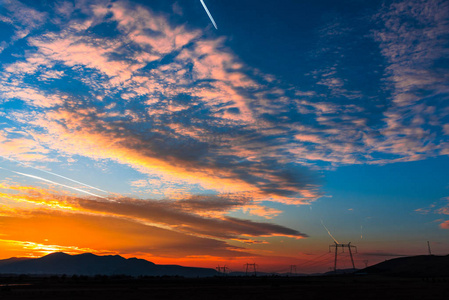
[[[98,116],[98,114],[97,114]],[[45,141],[54,149],[70,154],[78,154],[93,158],[110,158],[120,163],[152,174],[180,178],[186,183],[201,183],[205,187],[227,192],[254,191],[256,189],[233,176],[227,170],[194,167],[188,161],[183,162],[174,156],[162,157],[161,153],[152,151],[151,145],[139,136],[124,137],[121,126],[100,122],[95,124],[93,114],[72,111],[59,111],[47,115],[49,119],[39,120],[46,126],[47,135],[35,136]],[[64,125],[58,123],[63,122]],[[80,127],[80,125],[82,125]],[[97,129],[102,129],[97,131]],[[139,150],[140,151],[139,151]],[[156,149],[157,151],[157,149]],[[217,185],[217,182],[221,182]],[[220,188],[221,186],[221,188]]]

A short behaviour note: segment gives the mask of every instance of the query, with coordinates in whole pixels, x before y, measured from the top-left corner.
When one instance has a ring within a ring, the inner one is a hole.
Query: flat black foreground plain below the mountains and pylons
[[[1,277],[0,299],[449,299],[449,278]]]

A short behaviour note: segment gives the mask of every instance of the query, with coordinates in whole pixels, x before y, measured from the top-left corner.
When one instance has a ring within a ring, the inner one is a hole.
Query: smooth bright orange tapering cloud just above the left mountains
[[[24,211],[21,211],[24,212]],[[215,239],[194,237],[141,223],[80,213],[25,211],[25,214],[0,217],[5,240],[57,245],[60,249],[93,249],[94,252],[137,253],[185,257],[210,255],[218,257],[248,256],[243,249]],[[27,230],[24,230],[27,228]],[[47,241],[45,241],[47,240]],[[41,253],[39,245],[31,253]]]

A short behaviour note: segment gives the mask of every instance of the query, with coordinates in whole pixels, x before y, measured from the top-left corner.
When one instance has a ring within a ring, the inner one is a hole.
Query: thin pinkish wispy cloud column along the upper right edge
[[[447,11],[445,1],[403,1],[378,15],[384,28],[374,34],[389,63],[385,79],[392,86],[379,152],[408,160],[444,154],[441,123],[447,113],[436,112],[435,105],[445,107],[440,101],[448,99],[447,70],[433,66],[449,54]]]

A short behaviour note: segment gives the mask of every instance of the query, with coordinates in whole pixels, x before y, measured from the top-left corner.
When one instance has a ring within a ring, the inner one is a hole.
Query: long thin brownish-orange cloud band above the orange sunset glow
[[[12,189],[12,188],[11,188]],[[12,190],[21,190],[21,187],[14,187]],[[90,216],[100,216],[100,217],[110,217],[110,218],[120,218],[123,220],[128,220],[132,222],[137,222],[145,226],[152,226],[161,229],[171,230],[175,232],[179,232],[182,234],[187,234],[191,236],[197,237],[206,237],[206,238],[220,238],[220,235],[213,235],[212,232],[207,228],[208,222],[212,220],[222,220],[223,222],[228,223],[231,227],[229,232],[223,231],[224,235],[232,234],[235,236],[237,234],[235,226],[237,228],[246,228],[250,230],[250,233],[240,232],[238,235],[243,237],[275,237],[275,236],[284,236],[291,237],[295,239],[301,239],[303,236],[301,235],[291,235],[288,233],[279,234],[277,232],[272,232],[270,229],[263,229],[262,231],[256,230],[253,231],[251,228],[255,226],[255,224],[249,224],[248,221],[245,220],[237,220],[237,219],[227,219],[222,216],[220,218],[220,214],[215,216],[214,218],[204,217],[207,215],[211,215],[211,213],[200,213],[197,214],[198,217],[191,216],[193,215],[188,210],[188,213],[178,211],[177,213],[168,212],[167,208],[159,206],[146,206],[145,201],[142,202],[140,200],[132,200],[128,199],[127,201],[98,201],[95,199],[89,198],[80,198],[74,196],[60,196],[55,195],[53,191],[48,192],[44,189],[30,189],[28,192],[28,188],[24,189],[27,193],[24,194],[8,194],[2,193],[1,197],[5,199],[14,200],[18,203],[24,202],[34,205],[35,207],[31,207],[29,209],[39,209],[41,211],[47,210],[49,213],[51,210],[58,210],[61,213],[78,213]],[[174,202],[172,202],[174,203]],[[166,203],[168,205],[169,203]],[[144,205],[144,206],[142,206]],[[37,207],[36,207],[37,206]],[[257,205],[250,205],[251,209],[258,209]],[[246,206],[243,206],[245,209]],[[157,209],[157,212],[154,210]],[[265,212],[265,208],[261,207],[262,212]],[[161,215],[162,214],[162,215]],[[165,217],[163,216],[165,215]],[[183,217],[187,223],[182,223],[179,217]],[[169,221],[167,221],[167,218]],[[175,219],[174,219],[175,218]],[[214,221],[212,221],[214,222]],[[246,223],[245,223],[246,222]],[[221,226],[218,223],[213,223],[215,228],[219,230],[220,228],[216,226]],[[260,225],[260,224],[259,224]],[[243,226],[243,227],[239,227]],[[257,225],[256,225],[257,226]],[[237,230],[238,231],[238,230]],[[208,233],[209,232],[209,233]],[[255,232],[255,233],[251,233]],[[212,236],[211,236],[212,234]],[[239,240],[238,238],[234,240]],[[252,242],[253,243],[253,242]]]

